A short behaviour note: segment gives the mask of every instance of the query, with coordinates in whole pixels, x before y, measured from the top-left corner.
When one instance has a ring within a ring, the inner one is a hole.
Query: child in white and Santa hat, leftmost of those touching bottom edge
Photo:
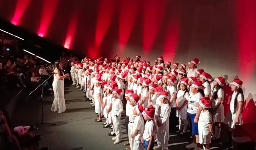
[[[132,135],[132,126],[134,123],[134,115],[133,115],[133,110],[135,108],[135,106],[138,104],[140,97],[134,93],[131,94],[131,96],[129,97],[129,104],[130,104],[130,109],[128,112],[129,115],[129,124],[128,124],[128,138],[129,138],[129,144],[130,144],[130,149],[132,150],[133,147],[133,143],[134,143],[134,138],[131,138]],[[129,147],[127,148],[129,149]]]

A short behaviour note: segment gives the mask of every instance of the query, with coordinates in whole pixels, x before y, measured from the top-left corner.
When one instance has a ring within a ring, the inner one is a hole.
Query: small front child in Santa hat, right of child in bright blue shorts
[[[198,120],[198,137],[199,143],[203,145],[204,150],[210,150],[212,129],[212,114],[209,109],[212,102],[208,97],[202,97],[199,102],[199,110],[201,111]],[[201,149],[201,148],[200,148]]]

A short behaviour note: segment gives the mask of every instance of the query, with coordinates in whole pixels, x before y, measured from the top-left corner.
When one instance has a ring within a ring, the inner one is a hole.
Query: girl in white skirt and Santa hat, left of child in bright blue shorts
[[[179,117],[179,131],[180,134],[187,132],[187,99],[189,97],[188,92],[188,78],[184,78],[180,83],[180,90],[177,93],[176,98],[176,116]],[[182,131],[183,124],[183,131]]]

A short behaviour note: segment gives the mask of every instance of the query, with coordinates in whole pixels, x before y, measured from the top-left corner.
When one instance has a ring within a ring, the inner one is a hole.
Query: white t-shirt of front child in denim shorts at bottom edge
[[[153,120],[148,120],[145,124],[145,130],[143,133],[143,139],[146,141],[150,140],[150,136],[156,137],[156,126]]]

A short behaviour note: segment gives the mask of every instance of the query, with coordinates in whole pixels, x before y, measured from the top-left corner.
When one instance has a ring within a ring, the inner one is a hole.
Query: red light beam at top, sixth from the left
[[[156,39],[165,12],[166,0],[143,1],[143,53],[147,55]]]

